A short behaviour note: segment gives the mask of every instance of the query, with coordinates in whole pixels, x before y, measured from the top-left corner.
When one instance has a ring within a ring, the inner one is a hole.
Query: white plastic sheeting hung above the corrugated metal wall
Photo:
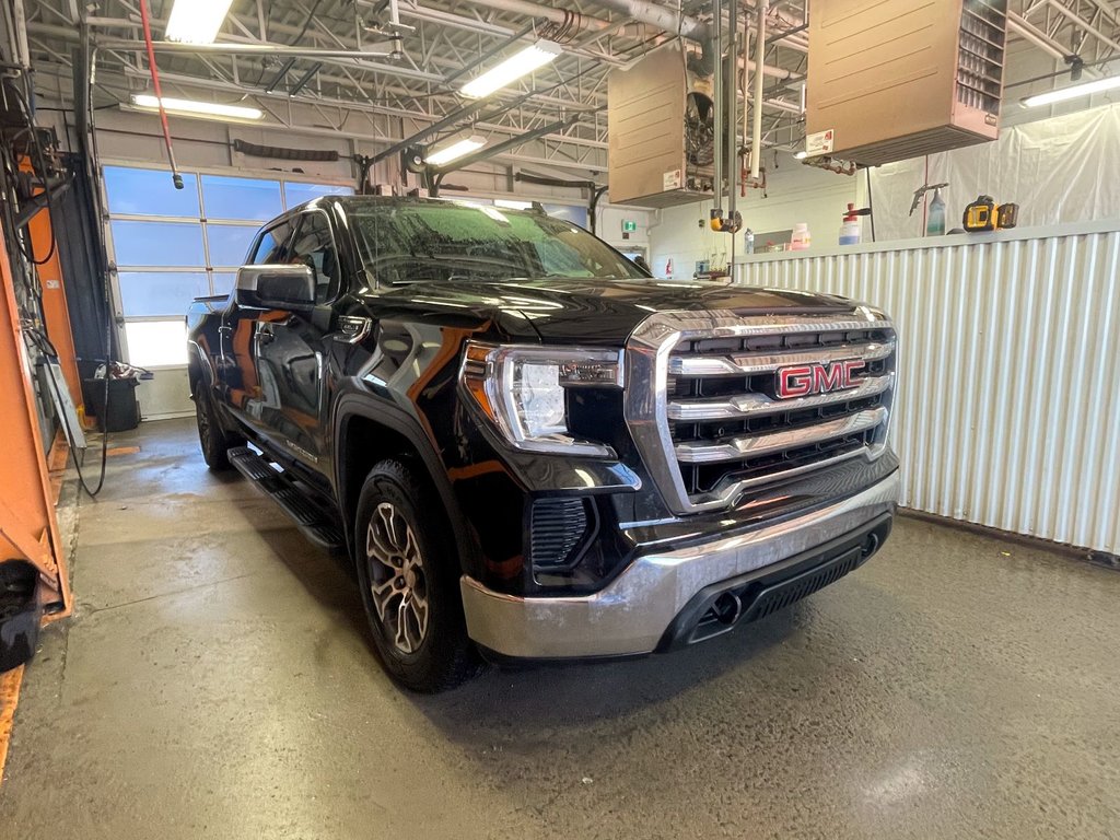
[[[999,140],[871,170],[879,242],[921,236],[923,206],[907,216],[914,190],[942,190],[946,230],[960,227],[978,195],[1019,205],[1019,227],[1120,217],[1120,105],[1077,111],[1005,129]],[[932,197],[932,193],[927,198]],[[868,225],[864,225],[865,236]],[[865,240],[866,241],[866,240]]]

